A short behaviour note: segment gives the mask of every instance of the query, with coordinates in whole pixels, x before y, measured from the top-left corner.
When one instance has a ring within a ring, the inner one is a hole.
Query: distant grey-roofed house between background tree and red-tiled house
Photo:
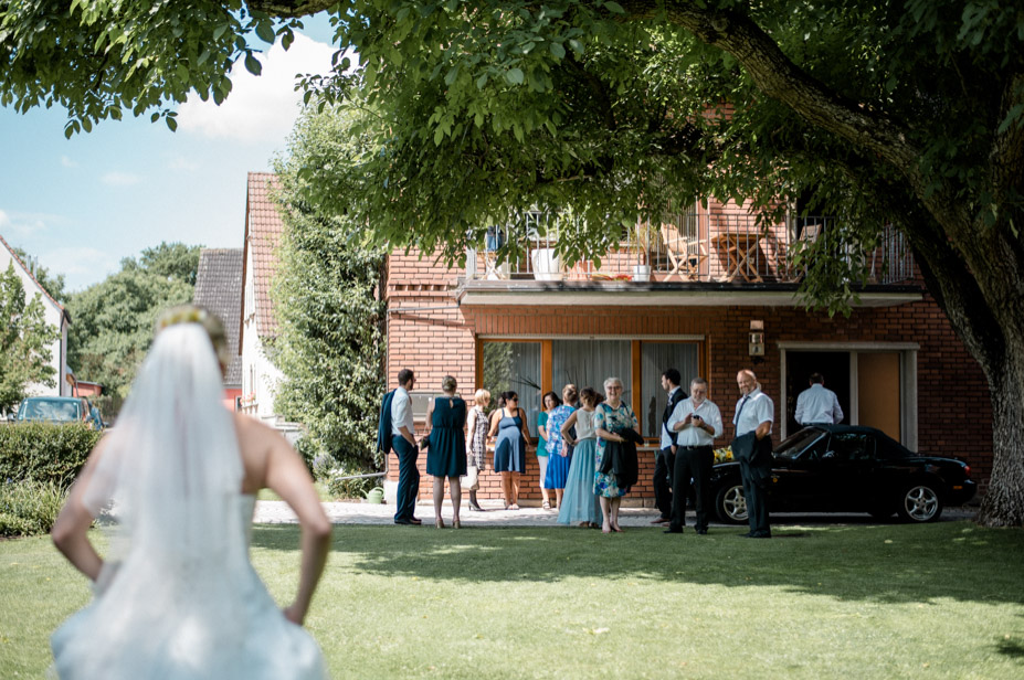
[[[228,347],[233,350],[224,374],[224,401],[241,408],[242,354],[239,326],[242,320],[242,248],[203,248],[199,253],[196,293],[192,301],[215,314],[224,322]]]

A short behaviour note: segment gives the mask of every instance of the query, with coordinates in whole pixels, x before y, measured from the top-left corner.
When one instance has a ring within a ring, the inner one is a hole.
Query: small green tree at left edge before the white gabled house
[[[44,312],[39,294],[25,299],[11,262],[0,273],[0,411],[17,407],[32,383],[56,384],[50,346],[61,333],[46,323]]]

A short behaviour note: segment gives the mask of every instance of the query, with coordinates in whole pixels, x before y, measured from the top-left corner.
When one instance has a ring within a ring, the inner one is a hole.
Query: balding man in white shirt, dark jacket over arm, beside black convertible
[[[732,456],[740,463],[743,477],[743,496],[747,499],[747,519],[750,539],[770,539],[768,522],[768,484],[771,479],[771,425],[775,419],[775,405],[771,397],[761,392],[753,371],[742,370],[736,375],[736,384],[743,395],[736,403],[736,438],[732,440]]]

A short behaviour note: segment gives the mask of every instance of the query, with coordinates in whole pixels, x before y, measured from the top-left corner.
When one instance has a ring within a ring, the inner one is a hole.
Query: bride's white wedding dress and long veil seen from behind
[[[86,507],[117,527],[95,598],[51,637],[60,678],[326,677],[316,641],[249,560],[255,498],[240,491],[233,422],[198,328],[157,337],[86,487]]]

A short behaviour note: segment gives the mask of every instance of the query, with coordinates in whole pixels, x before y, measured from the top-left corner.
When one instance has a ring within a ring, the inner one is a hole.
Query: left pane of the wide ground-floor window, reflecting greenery
[[[497,407],[502,392],[518,394],[519,407],[526,411],[534,437],[540,413],[540,385],[539,342],[484,342],[484,387],[490,392],[490,407]]]

